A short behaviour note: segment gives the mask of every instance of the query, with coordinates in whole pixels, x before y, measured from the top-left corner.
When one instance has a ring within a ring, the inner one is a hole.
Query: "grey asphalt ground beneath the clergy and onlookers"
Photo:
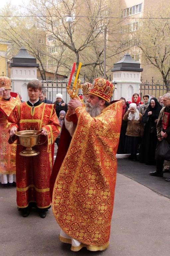
[[[60,228],[51,209],[45,219],[34,210],[23,218],[16,207],[16,188],[0,186],[1,255],[169,256],[170,182],[149,176],[150,170],[155,166],[118,159],[110,245],[101,252],[70,251],[69,244],[58,240]]]

